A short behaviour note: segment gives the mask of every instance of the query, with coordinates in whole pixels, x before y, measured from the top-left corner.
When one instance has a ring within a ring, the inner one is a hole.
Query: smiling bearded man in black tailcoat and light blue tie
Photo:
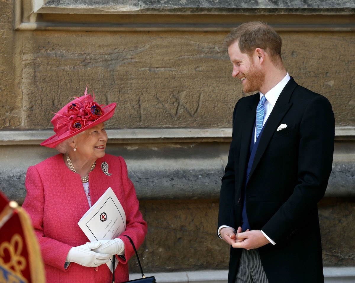
[[[267,24],[242,24],[225,45],[232,76],[258,91],[235,105],[220,190],[228,283],[324,282],[317,202],[332,170],[332,106],[289,76]]]

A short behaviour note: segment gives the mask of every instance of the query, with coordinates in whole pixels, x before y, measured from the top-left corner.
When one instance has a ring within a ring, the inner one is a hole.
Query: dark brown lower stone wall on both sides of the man
[[[324,266],[354,265],[354,202],[324,198],[318,205]],[[229,247],[216,232],[218,200],[141,201],[141,211],[148,234],[138,252],[146,270],[228,269]],[[135,259],[130,270],[139,271]]]

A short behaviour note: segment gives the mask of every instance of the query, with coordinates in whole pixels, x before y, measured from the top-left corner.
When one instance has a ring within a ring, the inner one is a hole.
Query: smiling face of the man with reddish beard
[[[250,57],[242,53],[238,41],[229,46],[228,54],[230,61],[233,63],[232,76],[241,80],[243,91],[247,93],[260,90],[265,82],[265,73],[254,61],[257,56],[253,54]]]

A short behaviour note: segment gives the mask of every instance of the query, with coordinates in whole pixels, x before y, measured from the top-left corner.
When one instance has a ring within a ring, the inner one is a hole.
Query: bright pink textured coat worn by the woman
[[[108,163],[107,176],[101,164]],[[96,166],[89,173],[91,203],[111,187],[121,202],[125,212],[127,227],[124,234],[129,235],[138,248],[147,233],[147,223],[138,210],[139,202],[133,183],[127,176],[127,166],[122,157],[106,154],[97,159]],[[112,272],[107,265],[83,267],[70,263],[64,269],[68,251],[73,246],[88,242],[88,238],[78,226],[78,221],[89,209],[81,178],[66,167],[62,154],[50,157],[35,166],[26,174],[27,195],[23,208],[29,213],[42,251],[47,282],[112,282]],[[125,257],[116,257],[119,265],[115,271],[116,282],[129,280],[127,260],[134,250],[127,237],[120,236],[125,244]]]

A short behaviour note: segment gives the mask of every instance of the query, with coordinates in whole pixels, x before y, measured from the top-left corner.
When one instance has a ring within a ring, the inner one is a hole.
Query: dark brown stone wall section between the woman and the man
[[[147,270],[228,268],[229,248],[216,233],[217,200],[147,201],[141,209],[148,223],[140,249]],[[135,261],[131,263],[132,272],[137,271]]]

